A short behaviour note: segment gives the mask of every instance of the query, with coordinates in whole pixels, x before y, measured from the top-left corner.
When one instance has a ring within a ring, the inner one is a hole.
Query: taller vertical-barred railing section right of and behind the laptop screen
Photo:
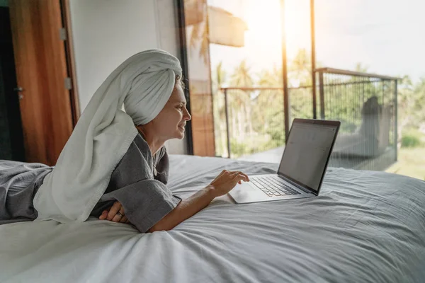
[[[397,161],[397,78],[331,68],[316,73],[319,118],[341,121],[329,166],[384,170]]]

